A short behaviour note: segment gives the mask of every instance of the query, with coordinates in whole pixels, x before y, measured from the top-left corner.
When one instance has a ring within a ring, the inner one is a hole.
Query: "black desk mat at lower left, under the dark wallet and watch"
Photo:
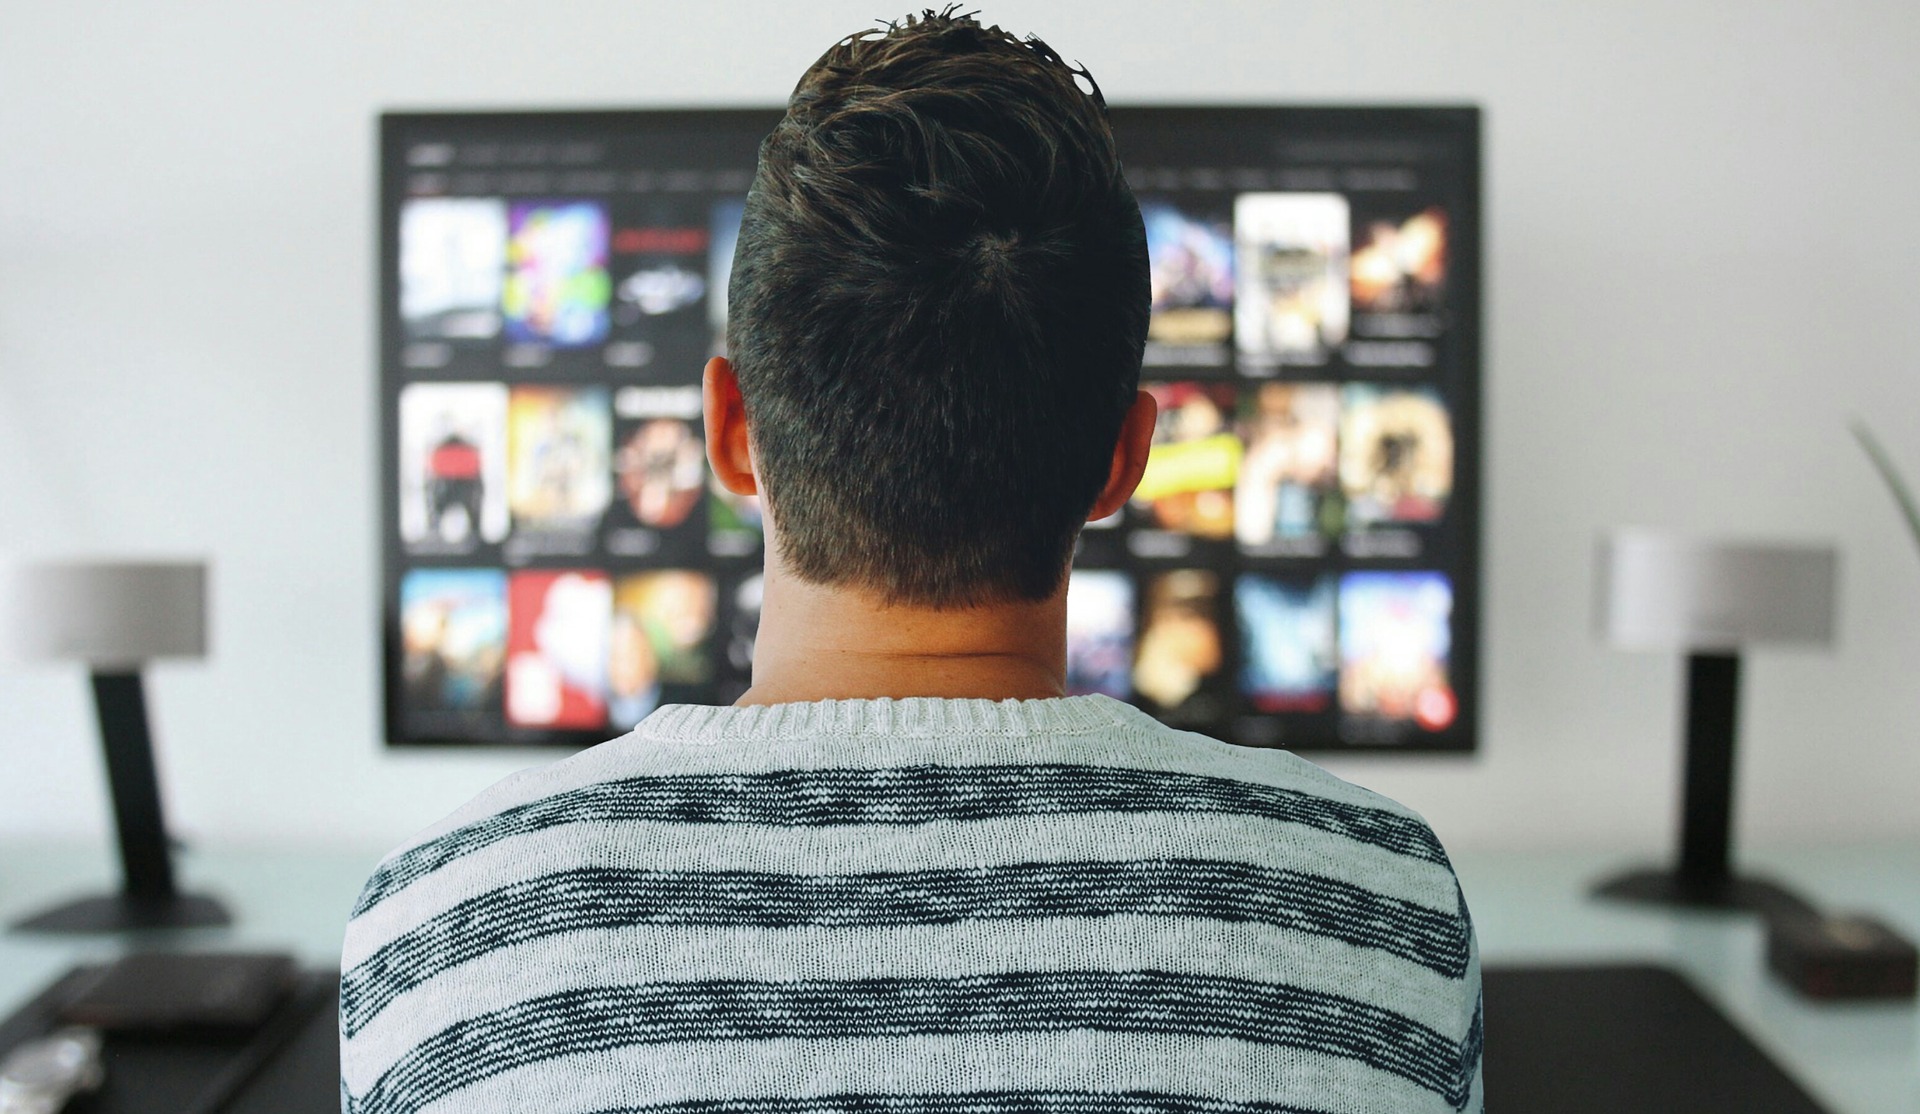
[[[0,1054],[54,1028],[94,968],[75,968],[0,1024]],[[307,972],[250,1037],[106,1039],[106,1083],[61,1114],[340,1114],[340,974]]]

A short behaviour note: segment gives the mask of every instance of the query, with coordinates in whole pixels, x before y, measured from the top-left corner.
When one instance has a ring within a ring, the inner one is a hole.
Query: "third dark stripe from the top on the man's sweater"
[[[403,1114],[555,1056],[674,1041],[1098,1029],[1331,1053],[1465,1108],[1480,1020],[1459,1043],[1384,1006],[1281,983],[1169,972],[1014,972],[954,980],[699,981],[578,987],[420,1041],[353,1102]]]

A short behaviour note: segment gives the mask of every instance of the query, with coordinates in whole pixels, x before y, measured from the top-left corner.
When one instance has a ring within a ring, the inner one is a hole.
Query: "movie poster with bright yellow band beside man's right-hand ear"
[[[1142,390],[1160,403],[1160,415],[1133,507],[1160,530],[1233,538],[1233,488],[1240,474],[1233,386],[1154,382]]]

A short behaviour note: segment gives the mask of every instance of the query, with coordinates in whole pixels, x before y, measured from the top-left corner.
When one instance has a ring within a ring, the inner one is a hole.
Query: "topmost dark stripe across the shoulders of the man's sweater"
[[[1112,766],[900,766],[624,778],[555,793],[455,828],[380,866],[359,916],[447,862],[515,836],[564,824],[927,824],[1075,812],[1231,812],[1302,824],[1382,851],[1446,864],[1411,816],[1311,793],[1169,770]]]

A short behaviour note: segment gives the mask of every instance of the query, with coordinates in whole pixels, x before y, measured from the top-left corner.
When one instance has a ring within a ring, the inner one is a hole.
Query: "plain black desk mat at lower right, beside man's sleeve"
[[[1655,966],[1494,966],[1494,1114],[1824,1114],[1678,974]]]

